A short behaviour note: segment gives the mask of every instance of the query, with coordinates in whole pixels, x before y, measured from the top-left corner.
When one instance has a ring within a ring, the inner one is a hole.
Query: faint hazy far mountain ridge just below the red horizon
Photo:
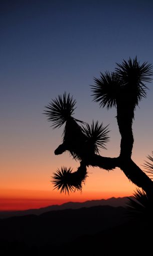
[[[132,198],[132,197],[130,197]],[[40,215],[42,213],[46,213],[49,211],[56,211],[56,210],[64,210],[64,209],[79,209],[83,207],[92,207],[92,206],[104,206],[104,205],[109,205],[113,207],[118,207],[122,206],[125,207],[126,203],[128,201],[127,197],[123,198],[109,198],[107,200],[101,199],[101,200],[91,200],[91,201],[85,201],[83,203],[78,203],[78,202],[68,202],[64,203],[62,205],[52,205],[40,209],[29,209],[25,211],[13,211],[13,212],[0,212],[0,218],[9,218],[13,216],[24,216],[24,215],[29,215],[29,214],[35,214],[35,215]]]

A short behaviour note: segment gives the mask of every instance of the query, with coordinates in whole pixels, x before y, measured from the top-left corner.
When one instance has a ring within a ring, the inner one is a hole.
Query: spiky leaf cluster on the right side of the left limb
[[[108,133],[109,130],[107,129],[107,126],[103,126],[103,123],[100,125],[98,124],[98,121],[94,123],[92,121],[91,126],[89,124],[86,124],[85,127],[83,127],[83,132],[87,139],[87,146],[89,147],[89,150],[93,151],[94,153],[99,153],[99,148],[105,148],[105,144],[109,141]]]

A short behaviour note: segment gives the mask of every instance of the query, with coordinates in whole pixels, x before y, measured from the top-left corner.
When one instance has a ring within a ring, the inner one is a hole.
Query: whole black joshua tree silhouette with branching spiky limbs
[[[105,149],[109,140],[108,125],[103,126],[92,122],[91,126],[73,117],[76,101],[66,94],[59,95],[45,106],[45,114],[52,121],[53,128],[65,123],[63,143],[55,150],[55,155],[69,151],[73,158],[80,161],[77,171],[62,167],[53,175],[55,188],[61,192],[82,189],[82,183],[88,176],[87,167],[98,166],[106,170],[119,167],[129,180],[145,191],[147,197],[153,198],[153,182],[146,172],[151,173],[152,164],[146,161],[145,168],[141,170],[131,159],[133,148],[132,122],[134,111],[139,101],[146,97],[145,82],[150,82],[153,75],[152,65],[143,62],[141,65],[137,58],[123,59],[117,64],[115,72],[100,74],[100,78],[94,78],[91,86],[92,96],[100,107],[117,109],[117,124],[121,135],[120,154],[118,157],[103,157],[99,154],[99,148]],[[152,161],[152,158],[148,156]]]

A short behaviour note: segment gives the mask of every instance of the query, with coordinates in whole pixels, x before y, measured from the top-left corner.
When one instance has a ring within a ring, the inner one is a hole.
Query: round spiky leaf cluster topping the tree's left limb
[[[73,99],[73,96],[70,97],[66,95],[66,92],[61,95],[58,95],[58,98],[55,98],[50,102],[45,108],[45,113],[48,116],[48,121],[52,121],[54,128],[62,126],[62,124],[67,121],[75,110],[76,100]]]

